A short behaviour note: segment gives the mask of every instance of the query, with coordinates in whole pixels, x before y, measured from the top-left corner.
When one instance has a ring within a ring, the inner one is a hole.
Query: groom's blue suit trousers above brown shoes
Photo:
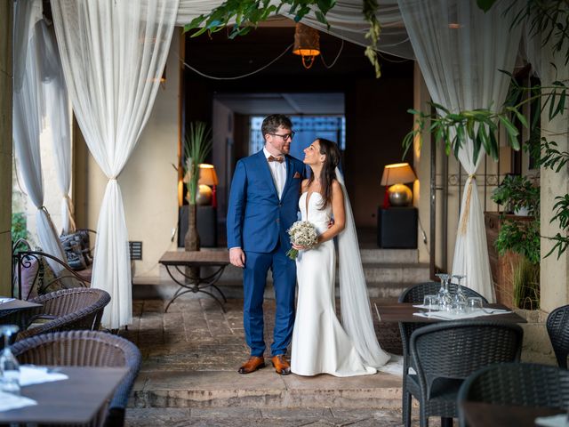
[[[257,357],[263,356],[266,348],[263,298],[269,269],[273,272],[276,301],[271,355],[286,353],[293,336],[296,263],[286,256],[280,243],[270,253],[245,252],[243,324],[251,355]]]

